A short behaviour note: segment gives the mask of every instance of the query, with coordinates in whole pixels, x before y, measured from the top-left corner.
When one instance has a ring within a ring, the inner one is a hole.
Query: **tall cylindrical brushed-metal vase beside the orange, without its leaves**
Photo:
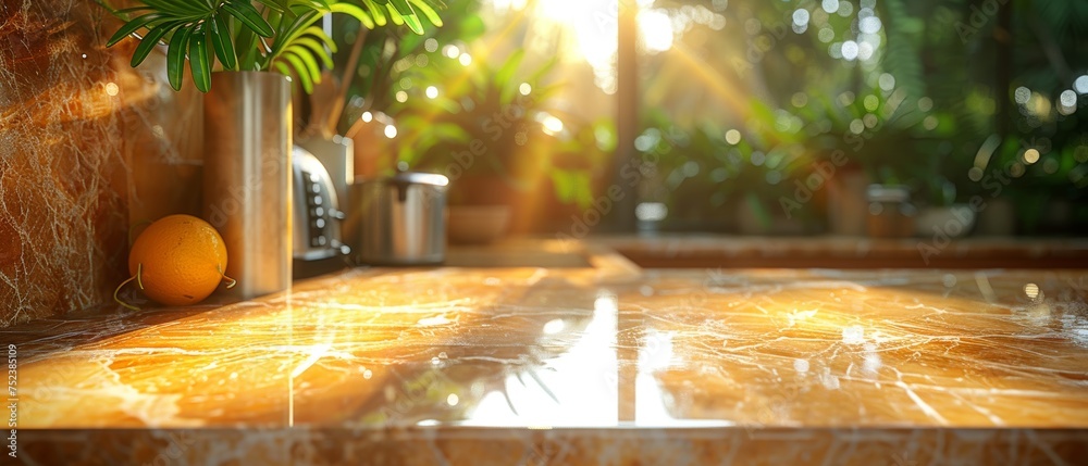
[[[205,95],[205,219],[226,243],[228,293],[286,290],[292,272],[290,81],[214,73]]]

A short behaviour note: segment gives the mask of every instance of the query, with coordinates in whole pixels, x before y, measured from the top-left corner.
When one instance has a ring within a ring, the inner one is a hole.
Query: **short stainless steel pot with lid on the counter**
[[[371,265],[429,265],[446,259],[446,187],[429,173],[398,173],[351,185],[345,241]]]

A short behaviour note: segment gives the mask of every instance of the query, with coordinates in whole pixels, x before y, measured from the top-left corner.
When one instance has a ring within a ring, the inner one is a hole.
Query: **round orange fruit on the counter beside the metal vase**
[[[148,298],[166,305],[196,304],[227,279],[226,245],[207,222],[170,215],[152,223],[128,252],[128,273]],[[122,284],[124,286],[124,284]],[[120,289],[120,287],[119,287]]]

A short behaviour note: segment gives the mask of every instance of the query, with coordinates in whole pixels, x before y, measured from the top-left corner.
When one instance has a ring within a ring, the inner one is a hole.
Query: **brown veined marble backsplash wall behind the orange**
[[[0,327],[111,303],[131,225],[199,213],[201,106],[91,0],[0,4]]]

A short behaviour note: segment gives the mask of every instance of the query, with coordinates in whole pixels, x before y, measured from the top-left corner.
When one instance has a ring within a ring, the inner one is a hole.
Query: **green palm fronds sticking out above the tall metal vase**
[[[139,0],[132,8],[114,10],[107,0],[95,1],[125,21],[108,47],[143,32],[131,64],[139,65],[164,42],[170,86],[181,89],[188,60],[194,84],[201,91],[210,88],[218,59],[226,71],[275,70],[294,75],[310,92],[321,79],[321,66],[334,65],[330,53],[336,45],[314,26],[324,15],[346,14],[367,28],[392,21],[422,34],[418,15],[441,26],[435,8],[443,5],[437,0]]]

